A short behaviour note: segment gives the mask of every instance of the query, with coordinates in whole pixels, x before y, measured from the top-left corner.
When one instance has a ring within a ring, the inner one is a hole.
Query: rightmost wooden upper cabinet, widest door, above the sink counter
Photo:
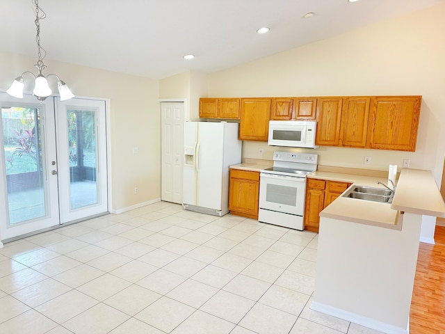
[[[368,127],[369,148],[416,150],[421,96],[373,97]]]

